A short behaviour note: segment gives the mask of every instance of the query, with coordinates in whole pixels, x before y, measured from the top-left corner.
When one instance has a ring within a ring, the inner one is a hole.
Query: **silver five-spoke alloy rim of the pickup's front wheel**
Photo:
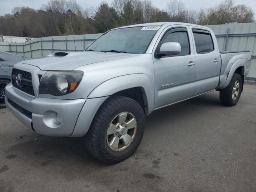
[[[114,151],[127,148],[135,137],[137,122],[135,116],[130,112],[122,112],[114,117],[108,126],[107,143]]]

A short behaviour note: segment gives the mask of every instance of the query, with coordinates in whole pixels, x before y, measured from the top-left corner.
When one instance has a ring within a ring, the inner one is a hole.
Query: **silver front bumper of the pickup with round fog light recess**
[[[5,103],[8,110],[26,126],[42,135],[71,136],[85,102],[86,99],[32,98],[16,90],[11,84],[6,86]],[[57,114],[62,119],[61,123],[56,118]]]

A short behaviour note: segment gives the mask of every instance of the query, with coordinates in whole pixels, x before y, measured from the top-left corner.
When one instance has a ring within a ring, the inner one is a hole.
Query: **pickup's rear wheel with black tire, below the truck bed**
[[[242,83],[241,75],[234,73],[229,85],[220,90],[220,102],[226,106],[236,105],[242,92]]]

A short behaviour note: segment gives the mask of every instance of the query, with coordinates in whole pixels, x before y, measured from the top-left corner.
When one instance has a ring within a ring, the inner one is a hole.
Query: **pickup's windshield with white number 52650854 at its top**
[[[160,26],[115,29],[102,35],[85,51],[145,53]]]

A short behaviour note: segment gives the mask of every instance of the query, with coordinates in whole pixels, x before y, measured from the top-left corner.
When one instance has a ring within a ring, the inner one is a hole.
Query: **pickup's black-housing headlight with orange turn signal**
[[[82,80],[82,71],[48,71],[42,77],[39,94],[61,96],[76,90]]]

